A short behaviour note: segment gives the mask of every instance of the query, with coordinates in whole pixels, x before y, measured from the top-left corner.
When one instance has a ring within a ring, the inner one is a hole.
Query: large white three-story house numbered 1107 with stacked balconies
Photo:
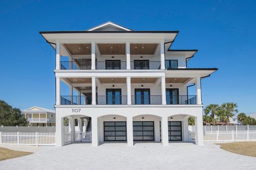
[[[218,69],[188,68],[197,50],[170,49],[178,32],[133,31],[113,22],[87,31],[40,32],[56,50],[56,145],[64,144],[64,117],[73,141],[75,119],[78,124],[86,119],[92,146],[105,141],[167,146],[189,141],[189,116],[195,116],[196,144],[203,145],[201,80]],[[190,84],[194,95],[188,94]]]

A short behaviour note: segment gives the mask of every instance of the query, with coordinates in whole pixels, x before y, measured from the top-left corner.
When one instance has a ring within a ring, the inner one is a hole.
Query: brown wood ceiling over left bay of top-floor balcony
[[[91,55],[91,44],[64,44],[72,55]]]

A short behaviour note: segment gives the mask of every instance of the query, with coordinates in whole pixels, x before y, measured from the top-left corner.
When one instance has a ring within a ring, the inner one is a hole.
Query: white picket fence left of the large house
[[[55,132],[0,132],[0,145],[55,146]]]

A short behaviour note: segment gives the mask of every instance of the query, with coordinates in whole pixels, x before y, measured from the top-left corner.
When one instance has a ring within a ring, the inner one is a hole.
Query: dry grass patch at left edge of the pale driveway
[[[0,161],[6,160],[6,159],[17,158],[17,157],[21,157],[21,156],[26,156],[26,155],[30,155],[30,154],[33,154],[33,153],[10,150],[10,149],[6,149],[6,148],[0,148]]]

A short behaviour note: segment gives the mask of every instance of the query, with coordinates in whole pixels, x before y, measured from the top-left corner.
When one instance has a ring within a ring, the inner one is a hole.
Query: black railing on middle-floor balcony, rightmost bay
[[[196,95],[166,95],[167,105],[196,105]]]

